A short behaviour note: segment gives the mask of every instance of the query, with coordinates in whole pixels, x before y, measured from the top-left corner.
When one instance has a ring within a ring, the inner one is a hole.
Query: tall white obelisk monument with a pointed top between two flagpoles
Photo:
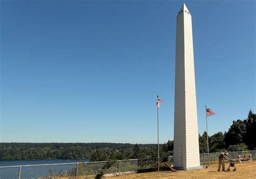
[[[185,4],[177,15],[173,167],[198,169],[199,141],[191,14]]]

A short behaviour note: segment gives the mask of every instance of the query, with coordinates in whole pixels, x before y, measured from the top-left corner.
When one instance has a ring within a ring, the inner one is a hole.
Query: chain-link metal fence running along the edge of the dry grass
[[[210,162],[218,161],[220,153],[210,153]],[[230,159],[237,159],[238,155],[252,154],[256,159],[256,151],[230,152]],[[160,169],[164,170],[164,163],[173,164],[172,156],[160,157]],[[206,164],[208,154],[200,154],[200,164]],[[78,162],[60,164],[36,164],[26,166],[0,167],[0,178],[95,178],[104,174],[122,175],[124,173],[141,173],[157,171],[157,157],[147,159],[116,160],[103,162]]]

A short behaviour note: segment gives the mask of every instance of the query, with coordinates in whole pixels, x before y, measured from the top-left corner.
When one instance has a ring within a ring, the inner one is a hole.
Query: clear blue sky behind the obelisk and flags
[[[1,1],[1,142],[173,139],[184,1]],[[186,1],[199,133],[256,112],[255,1]]]

